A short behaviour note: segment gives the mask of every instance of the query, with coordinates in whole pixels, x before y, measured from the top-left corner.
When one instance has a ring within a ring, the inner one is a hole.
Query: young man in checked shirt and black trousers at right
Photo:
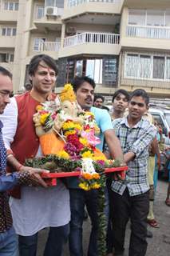
[[[125,180],[112,183],[114,256],[123,255],[129,218],[131,237],[128,255],[144,256],[147,250],[148,147],[156,136],[156,128],[142,118],[148,109],[148,102],[148,94],[144,90],[134,90],[128,102],[128,117],[113,121],[128,165]]]

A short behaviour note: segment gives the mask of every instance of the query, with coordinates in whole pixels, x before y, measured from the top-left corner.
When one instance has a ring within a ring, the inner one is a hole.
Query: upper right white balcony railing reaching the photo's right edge
[[[133,38],[170,39],[170,27],[128,25],[126,35]]]

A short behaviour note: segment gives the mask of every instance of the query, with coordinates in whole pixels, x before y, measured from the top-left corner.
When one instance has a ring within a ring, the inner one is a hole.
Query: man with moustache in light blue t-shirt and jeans
[[[75,78],[72,82],[73,90],[77,96],[77,103],[83,110],[93,112],[101,133],[101,144],[97,147],[103,149],[103,140],[108,143],[113,158],[123,159],[120,142],[113,131],[113,125],[107,110],[93,107],[95,82],[88,77]],[[82,249],[82,224],[84,218],[84,207],[89,213],[92,223],[92,231],[89,239],[88,256],[97,256],[97,190],[85,191],[78,188],[78,180],[69,182],[71,222],[69,235],[69,250],[71,256],[83,256]]]

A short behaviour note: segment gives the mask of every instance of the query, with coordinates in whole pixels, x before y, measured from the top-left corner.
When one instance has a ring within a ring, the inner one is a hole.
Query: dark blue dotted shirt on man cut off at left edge
[[[29,177],[27,172],[14,173],[6,176],[6,148],[2,139],[2,122],[0,121],[0,233],[12,226],[9,198],[6,190],[10,190],[18,182],[25,182]]]

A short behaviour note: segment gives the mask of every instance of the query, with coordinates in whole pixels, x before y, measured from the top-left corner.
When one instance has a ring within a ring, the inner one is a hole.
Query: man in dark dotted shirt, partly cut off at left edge
[[[0,66],[0,114],[10,102],[12,93],[12,75],[2,66]],[[1,256],[18,256],[17,237],[12,226],[12,217],[8,202],[6,190],[10,190],[16,184],[31,182],[36,178],[36,182],[41,186],[46,186],[40,178],[34,177],[34,174],[42,173],[42,170],[28,170],[6,174],[6,148],[2,139],[2,122],[0,120],[0,255]],[[10,155],[9,155],[10,157]]]

